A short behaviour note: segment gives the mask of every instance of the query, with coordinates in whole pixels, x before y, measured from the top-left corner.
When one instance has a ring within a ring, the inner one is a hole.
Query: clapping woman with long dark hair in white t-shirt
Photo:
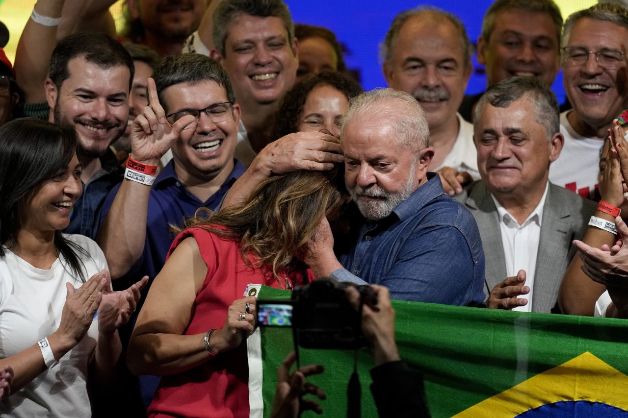
[[[0,415],[89,417],[88,370],[92,387],[111,380],[146,283],[112,292],[98,245],[62,234],[82,191],[76,146],[71,127],[0,127],[0,370],[14,370]]]

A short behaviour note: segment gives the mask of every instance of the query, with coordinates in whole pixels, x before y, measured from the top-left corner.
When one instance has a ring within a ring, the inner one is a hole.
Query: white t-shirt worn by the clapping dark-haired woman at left
[[[90,255],[82,257],[85,279],[107,269],[105,256],[94,241],[82,235],[65,237]],[[69,267],[64,269],[62,255],[50,270],[41,270],[10,250],[4,251],[0,257],[0,358],[16,355],[55,332],[67,296],[65,283],[77,289],[82,284],[66,271]],[[97,340],[98,321],[94,320],[85,338],[57,365],[0,402],[0,415],[90,417],[87,366]]]

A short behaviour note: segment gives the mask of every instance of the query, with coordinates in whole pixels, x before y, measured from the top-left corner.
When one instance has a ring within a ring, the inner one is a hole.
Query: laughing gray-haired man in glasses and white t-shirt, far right
[[[598,199],[600,147],[628,105],[628,9],[595,4],[571,14],[563,29],[563,80],[573,106],[560,115],[565,146],[549,166],[549,181]]]

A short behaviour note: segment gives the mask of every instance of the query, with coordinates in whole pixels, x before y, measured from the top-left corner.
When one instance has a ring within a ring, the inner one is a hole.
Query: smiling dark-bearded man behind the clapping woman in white
[[[106,35],[71,35],[52,53],[44,85],[50,121],[76,129],[84,184],[63,232],[95,238],[96,214],[109,190],[122,180],[109,145],[126,129],[133,74],[129,53]]]

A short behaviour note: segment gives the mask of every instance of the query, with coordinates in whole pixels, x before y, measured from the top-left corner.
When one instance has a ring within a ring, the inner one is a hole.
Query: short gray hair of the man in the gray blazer
[[[512,102],[526,97],[534,107],[534,119],[545,127],[548,139],[560,132],[560,110],[556,95],[536,77],[512,77],[492,85],[475,106],[474,125],[477,125],[484,106],[509,107]]]

